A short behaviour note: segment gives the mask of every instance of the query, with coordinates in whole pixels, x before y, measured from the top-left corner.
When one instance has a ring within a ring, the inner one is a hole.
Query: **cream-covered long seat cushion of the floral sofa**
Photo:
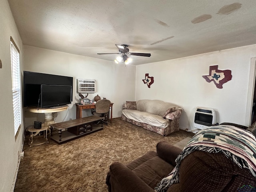
[[[162,118],[162,116],[155,115],[149,112],[124,109],[122,110],[122,114],[128,119],[132,119],[141,123],[146,123],[159,128],[166,128],[169,125],[169,121]]]

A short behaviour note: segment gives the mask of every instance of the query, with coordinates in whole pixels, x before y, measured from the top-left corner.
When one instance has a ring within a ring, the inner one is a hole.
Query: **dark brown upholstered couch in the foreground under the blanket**
[[[106,178],[109,192],[154,192],[168,176],[182,150],[167,142],[159,142],[156,152],[150,151],[129,164],[110,165]],[[256,178],[247,169],[239,168],[222,153],[194,151],[180,164],[180,182],[167,192],[235,192],[242,186],[256,187]]]

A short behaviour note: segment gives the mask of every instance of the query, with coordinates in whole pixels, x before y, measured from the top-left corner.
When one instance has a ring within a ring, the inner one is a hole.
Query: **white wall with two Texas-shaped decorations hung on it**
[[[217,122],[246,124],[250,60],[256,56],[256,45],[222,50],[137,66],[136,100],[159,99],[180,105],[184,112],[180,128],[194,129],[194,112],[197,106],[213,108]],[[232,79],[216,88],[214,82],[202,77],[209,74],[209,66],[231,70]],[[154,77],[150,88],[142,82],[145,74]]]

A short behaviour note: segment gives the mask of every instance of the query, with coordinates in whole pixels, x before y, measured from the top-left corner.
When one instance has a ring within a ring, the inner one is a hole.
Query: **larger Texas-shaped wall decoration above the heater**
[[[231,70],[218,70],[218,65],[210,66],[209,75],[203,75],[207,82],[213,81],[217,88],[232,79]]]

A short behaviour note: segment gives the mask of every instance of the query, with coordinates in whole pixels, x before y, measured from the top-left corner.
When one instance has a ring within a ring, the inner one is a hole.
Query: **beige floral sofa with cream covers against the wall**
[[[161,100],[126,101],[121,119],[167,136],[179,130],[182,111],[180,106]]]

